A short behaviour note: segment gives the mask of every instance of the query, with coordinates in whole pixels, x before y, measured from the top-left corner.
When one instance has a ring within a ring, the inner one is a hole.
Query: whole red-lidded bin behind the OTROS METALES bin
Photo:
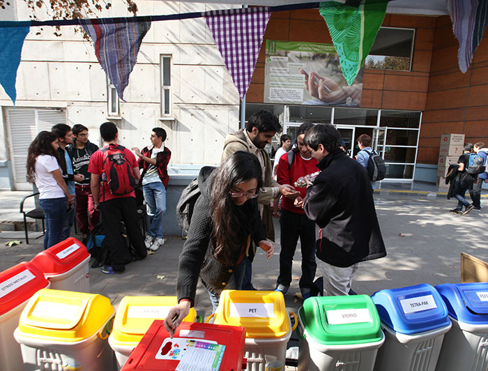
[[[51,282],[51,289],[90,292],[89,261],[85,245],[70,237],[39,252],[31,263]]]

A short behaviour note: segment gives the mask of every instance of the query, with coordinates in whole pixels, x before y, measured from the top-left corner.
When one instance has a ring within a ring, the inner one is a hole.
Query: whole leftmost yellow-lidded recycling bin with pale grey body
[[[14,332],[24,370],[112,370],[107,325],[113,316],[109,298],[100,294],[39,290]]]

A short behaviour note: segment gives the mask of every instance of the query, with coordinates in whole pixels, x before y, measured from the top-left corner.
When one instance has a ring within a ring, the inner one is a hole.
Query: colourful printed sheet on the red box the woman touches
[[[213,340],[166,338],[155,358],[179,361],[177,371],[218,371],[224,351],[225,345]]]

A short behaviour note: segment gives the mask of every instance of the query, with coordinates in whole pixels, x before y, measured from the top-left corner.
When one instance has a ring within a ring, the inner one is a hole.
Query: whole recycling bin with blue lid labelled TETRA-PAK
[[[444,334],[451,328],[437,290],[428,284],[381,290],[372,300],[385,333],[374,371],[434,371]]]

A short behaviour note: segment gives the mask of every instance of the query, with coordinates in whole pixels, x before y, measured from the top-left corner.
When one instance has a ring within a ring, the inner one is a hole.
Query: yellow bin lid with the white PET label
[[[214,324],[243,326],[246,338],[282,338],[290,319],[281,292],[224,290]]]

